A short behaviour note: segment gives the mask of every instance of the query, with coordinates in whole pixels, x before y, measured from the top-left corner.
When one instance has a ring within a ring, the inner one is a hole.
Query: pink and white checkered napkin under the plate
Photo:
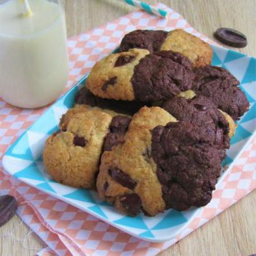
[[[70,76],[67,89],[81,79],[95,61],[113,51],[125,33],[134,29],[168,31],[182,28],[210,42],[209,38],[191,28],[179,13],[164,4],[158,6],[170,12],[169,19],[159,19],[154,15],[138,11],[70,38],[68,40]],[[20,134],[44,113],[45,109],[22,110],[13,108],[0,99],[0,157],[3,157],[6,148],[17,140]],[[243,154],[230,173],[218,184],[210,204],[204,207],[179,236],[165,243],[150,243],[125,234],[86,212],[10,177],[3,172],[1,163],[0,194],[11,193],[18,198],[20,218],[48,246],[38,253],[40,256],[156,255],[253,191],[256,188],[256,180],[253,177],[255,169],[256,136],[244,148]]]

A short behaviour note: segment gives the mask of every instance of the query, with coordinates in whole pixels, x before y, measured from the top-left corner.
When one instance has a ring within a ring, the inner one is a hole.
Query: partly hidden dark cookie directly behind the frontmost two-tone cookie
[[[196,96],[193,99],[174,97],[164,102],[162,108],[177,120],[198,127],[204,138],[202,142],[216,147],[220,150],[221,159],[225,158],[225,149],[230,147],[230,136],[234,134],[235,124],[231,118],[226,119],[211,100],[204,96]]]

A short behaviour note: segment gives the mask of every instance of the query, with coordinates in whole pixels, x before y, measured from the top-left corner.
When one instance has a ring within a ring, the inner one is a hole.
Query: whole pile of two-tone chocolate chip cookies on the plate
[[[210,45],[181,29],[125,35],[48,138],[47,172],[131,216],[208,204],[249,107],[236,77],[211,59]]]

